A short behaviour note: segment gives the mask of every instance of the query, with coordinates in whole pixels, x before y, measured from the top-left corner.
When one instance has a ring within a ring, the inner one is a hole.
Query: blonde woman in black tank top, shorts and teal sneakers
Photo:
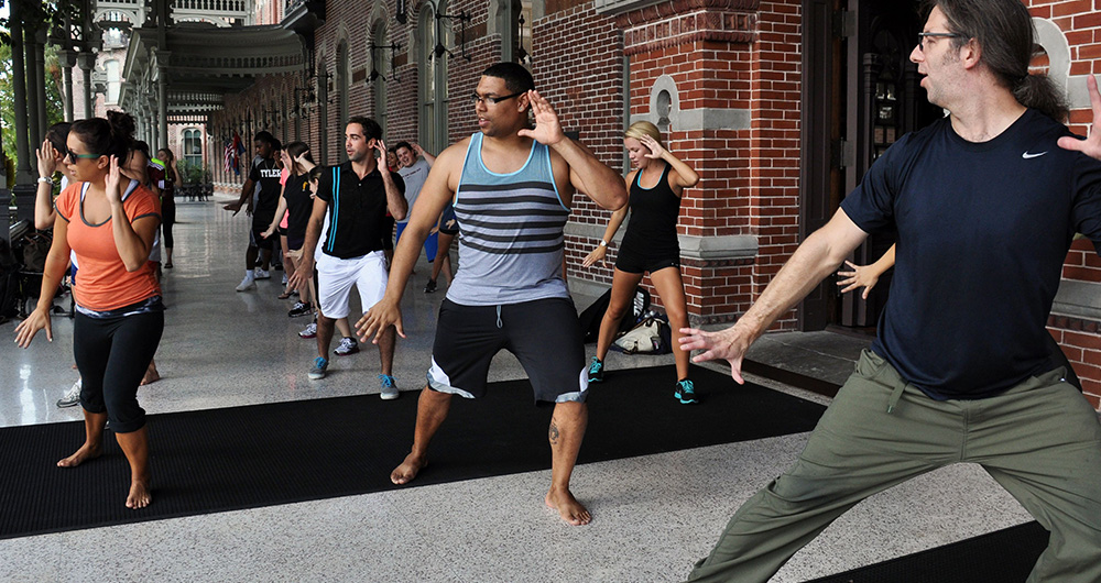
[[[623,223],[628,209],[631,209],[631,222],[615,261],[611,302],[600,321],[597,355],[589,365],[590,383],[603,381],[604,356],[619,329],[620,320],[631,306],[634,290],[646,272],[662,298],[669,326],[674,330],[688,326],[688,305],[680,279],[677,217],[684,189],[696,186],[699,175],[691,166],[665,150],[661,131],[648,121],[632,123],[623,139],[623,145],[631,158],[631,166],[635,168],[626,175],[630,202],[612,213],[603,239],[582,263],[588,267],[604,261],[608,242]],[[677,363],[677,384],[673,396],[685,405],[697,403],[695,388],[688,378],[688,353],[674,343],[673,355]]]

